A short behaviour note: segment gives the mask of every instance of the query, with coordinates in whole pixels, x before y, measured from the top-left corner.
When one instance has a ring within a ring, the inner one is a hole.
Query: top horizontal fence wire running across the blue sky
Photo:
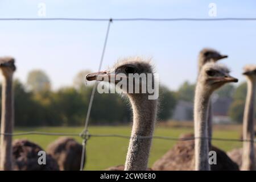
[[[25,20],[25,21],[151,21],[151,22],[172,22],[172,21],[255,21],[256,18],[0,18],[2,21]]]

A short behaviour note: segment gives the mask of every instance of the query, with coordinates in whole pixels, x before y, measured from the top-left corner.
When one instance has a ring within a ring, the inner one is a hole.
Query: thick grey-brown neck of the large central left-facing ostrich
[[[148,100],[147,96],[130,97],[133,107],[133,129],[126,156],[126,171],[147,170],[148,157],[154,133],[157,100]]]

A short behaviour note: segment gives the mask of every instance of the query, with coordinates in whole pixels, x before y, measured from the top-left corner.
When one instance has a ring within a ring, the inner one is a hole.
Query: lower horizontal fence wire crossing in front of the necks
[[[0,135],[8,135],[8,136],[24,136],[24,135],[48,135],[48,136],[63,136],[63,137],[81,137],[79,133],[48,133],[48,132],[40,132],[40,131],[30,131],[24,133],[0,133]],[[208,138],[208,137],[184,137],[184,138],[177,138],[177,137],[167,137],[167,136],[138,136],[138,137],[130,137],[128,135],[119,135],[119,134],[84,134],[86,138],[125,138],[125,139],[164,139],[164,140],[174,140],[174,141],[188,141],[188,140],[195,140],[195,139],[204,139],[204,140],[216,140],[216,141],[223,141],[223,142],[254,142],[256,143],[256,139],[254,140],[243,140],[243,139],[234,139],[234,138]]]

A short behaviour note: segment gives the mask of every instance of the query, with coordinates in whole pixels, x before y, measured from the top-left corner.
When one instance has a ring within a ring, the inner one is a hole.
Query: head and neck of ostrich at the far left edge
[[[14,125],[13,74],[16,69],[13,57],[1,57],[0,69],[3,76],[1,133],[12,134]],[[0,170],[10,171],[13,169],[11,143],[11,135],[1,136]]]

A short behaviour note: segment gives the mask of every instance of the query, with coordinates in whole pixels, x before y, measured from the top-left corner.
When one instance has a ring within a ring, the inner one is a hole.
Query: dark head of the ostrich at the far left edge
[[[10,77],[13,75],[14,71],[16,70],[14,62],[13,57],[0,57],[0,69],[3,76]]]

